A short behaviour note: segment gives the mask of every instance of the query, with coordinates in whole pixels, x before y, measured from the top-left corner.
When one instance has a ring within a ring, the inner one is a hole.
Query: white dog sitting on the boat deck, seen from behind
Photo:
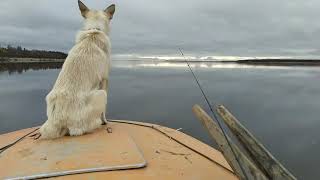
[[[80,0],[78,4],[84,27],[46,97],[48,120],[40,128],[42,139],[82,135],[106,122],[111,53],[108,35],[115,5],[96,11]]]

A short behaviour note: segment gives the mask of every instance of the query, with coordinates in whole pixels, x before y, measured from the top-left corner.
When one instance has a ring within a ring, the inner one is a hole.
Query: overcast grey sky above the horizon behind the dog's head
[[[83,0],[116,4],[113,54],[320,55],[319,0]],[[68,52],[82,17],[77,0],[1,0],[0,44]]]

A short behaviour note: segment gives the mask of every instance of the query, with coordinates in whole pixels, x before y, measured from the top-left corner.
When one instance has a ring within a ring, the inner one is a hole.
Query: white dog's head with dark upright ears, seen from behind
[[[109,33],[109,24],[113,18],[116,6],[114,4],[107,7],[105,10],[97,11],[90,10],[80,0],[78,0],[81,15],[84,17],[84,26],[86,29],[100,29],[106,34]]]

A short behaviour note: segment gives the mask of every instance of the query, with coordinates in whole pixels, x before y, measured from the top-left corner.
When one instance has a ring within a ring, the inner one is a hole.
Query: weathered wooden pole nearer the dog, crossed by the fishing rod
[[[266,176],[239,150],[239,148],[232,143],[231,139],[227,136],[225,137],[222,133],[220,127],[213,121],[213,119],[199,106],[194,105],[192,108],[195,116],[201,121],[202,125],[207,129],[210,136],[215,140],[215,142],[219,145],[220,151],[230,164],[231,168],[235,172],[235,174],[240,179],[254,179],[254,180],[266,180]],[[232,146],[232,149],[227,142],[227,139]],[[236,159],[236,156],[239,160],[239,163]],[[243,168],[244,172],[241,170]],[[246,173],[246,176],[244,175]]]

